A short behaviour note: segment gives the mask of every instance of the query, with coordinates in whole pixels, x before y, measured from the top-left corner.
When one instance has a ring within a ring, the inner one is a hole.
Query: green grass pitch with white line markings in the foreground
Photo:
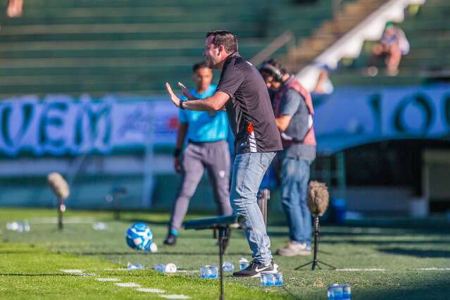
[[[30,232],[6,230],[7,222],[25,219]],[[124,233],[135,220],[146,221],[154,230],[158,253],[127,247]],[[69,211],[65,221],[63,232],[58,232],[54,210],[0,209],[0,299],[163,299],[170,294],[218,299],[218,280],[199,277],[201,265],[218,263],[211,231],[182,231],[177,246],[168,248],[162,245],[167,214],[123,213],[122,220],[114,221],[112,213]],[[108,229],[94,230],[97,221]],[[352,299],[450,299],[450,227],[444,220],[373,220],[324,225],[321,232],[320,260],[344,270],[294,270],[311,257],[275,256],[285,277],[283,288],[264,290],[258,279],[236,279],[227,273],[225,298],[327,299],[327,285],[349,283]],[[285,226],[270,225],[269,234],[273,251],[287,241]],[[242,256],[250,258],[249,247],[242,232],[235,231],[225,261],[237,266]],[[142,263],[145,270],[127,271],[127,262]],[[151,270],[156,263],[170,262],[180,272]],[[74,269],[85,276],[62,271]],[[139,292],[99,278],[164,292]]]

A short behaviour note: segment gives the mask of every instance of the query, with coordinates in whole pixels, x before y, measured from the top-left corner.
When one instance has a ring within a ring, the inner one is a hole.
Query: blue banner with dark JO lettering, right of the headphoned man
[[[339,88],[317,96],[318,151],[387,139],[450,140],[450,86]]]

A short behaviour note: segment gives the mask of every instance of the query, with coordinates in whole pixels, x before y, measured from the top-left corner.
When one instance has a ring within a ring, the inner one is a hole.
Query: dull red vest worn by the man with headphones
[[[298,82],[294,78],[294,80],[291,80],[291,82],[289,82],[287,85],[282,87],[280,89],[280,91],[278,91],[277,94],[275,94],[275,99],[273,101],[275,118],[280,117],[281,101],[283,99],[283,96],[285,96],[285,94],[287,93],[287,91],[289,89],[294,89],[296,92],[298,92],[303,97],[303,99],[305,99],[305,103],[306,103],[306,106],[308,107],[308,111],[309,111],[310,115],[312,117],[314,117],[314,108],[313,108],[313,101],[311,100],[311,94],[309,94],[309,92],[303,86],[300,85],[300,82]],[[311,125],[311,128],[309,128],[308,132],[306,133],[306,136],[300,137],[299,139],[301,140],[301,142],[296,141],[296,143],[312,145],[312,146],[317,145],[317,143],[315,142],[313,125]],[[292,140],[283,138],[283,135],[282,135],[282,143],[283,143],[283,146],[290,146],[294,142]]]

